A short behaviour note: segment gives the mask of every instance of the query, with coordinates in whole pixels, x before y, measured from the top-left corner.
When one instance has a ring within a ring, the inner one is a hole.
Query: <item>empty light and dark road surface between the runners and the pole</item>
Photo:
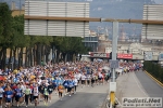
[[[45,106],[43,102],[37,108],[101,108],[103,102],[108,96],[109,83],[104,85],[80,86],[77,87],[77,93],[72,96],[64,96],[62,100],[54,95],[54,98],[49,106]],[[15,106],[12,108],[16,108]],[[21,106],[20,108],[25,108]],[[34,108],[34,105],[27,108]]]

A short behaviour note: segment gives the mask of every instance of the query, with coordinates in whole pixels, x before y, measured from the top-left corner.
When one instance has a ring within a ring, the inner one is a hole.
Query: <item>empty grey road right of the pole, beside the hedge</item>
[[[143,71],[130,72],[123,76],[121,75],[117,81],[118,80],[120,83],[117,84],[118,87],[117,98],[121,102],[121,104],[123,97],[162,97],[163,98],[163,87],[160,86]],[[122,107],[120,106],[118,108]]]

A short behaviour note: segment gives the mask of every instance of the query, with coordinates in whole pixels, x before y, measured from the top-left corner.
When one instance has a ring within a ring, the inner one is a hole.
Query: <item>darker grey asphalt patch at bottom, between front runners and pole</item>
[[[100,108],[106,93],[78,93],[54,103],[49,108]]]

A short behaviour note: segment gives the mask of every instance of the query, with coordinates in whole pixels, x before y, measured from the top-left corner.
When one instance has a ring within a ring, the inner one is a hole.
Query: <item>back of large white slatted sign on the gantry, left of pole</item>
[[[25,1],[24,35],[85,37],[89,22],[63,21],[63,17],[89,17],[89,2]]]

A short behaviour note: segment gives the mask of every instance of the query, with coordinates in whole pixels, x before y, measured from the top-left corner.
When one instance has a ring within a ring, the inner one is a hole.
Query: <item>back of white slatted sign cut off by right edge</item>
[[[163,4],[143,5],[143,19],[163,21]],[[141,41],[163,40],[163,25],[142,24]]]

